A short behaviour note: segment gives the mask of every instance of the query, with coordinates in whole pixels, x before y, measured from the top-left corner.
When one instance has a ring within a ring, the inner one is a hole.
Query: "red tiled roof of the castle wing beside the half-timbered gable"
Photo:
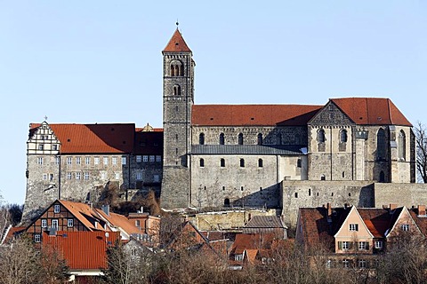
[[[31,123],[34,132],[39,123]],[[60,153],[131,153],[135,125],[127,124],[49,124],[60,140]]]

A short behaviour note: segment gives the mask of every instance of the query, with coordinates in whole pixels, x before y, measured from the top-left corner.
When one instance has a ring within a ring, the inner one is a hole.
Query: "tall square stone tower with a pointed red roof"
[[[186,208],[190,200],[189,153],[195,62],[178,28],[162,53],[164,161],[161,207]]]

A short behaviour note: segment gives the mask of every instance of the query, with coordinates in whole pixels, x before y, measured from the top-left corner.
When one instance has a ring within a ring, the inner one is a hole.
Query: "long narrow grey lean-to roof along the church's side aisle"
[[[303,154],[302,145],[192,145],[191,154]]]

